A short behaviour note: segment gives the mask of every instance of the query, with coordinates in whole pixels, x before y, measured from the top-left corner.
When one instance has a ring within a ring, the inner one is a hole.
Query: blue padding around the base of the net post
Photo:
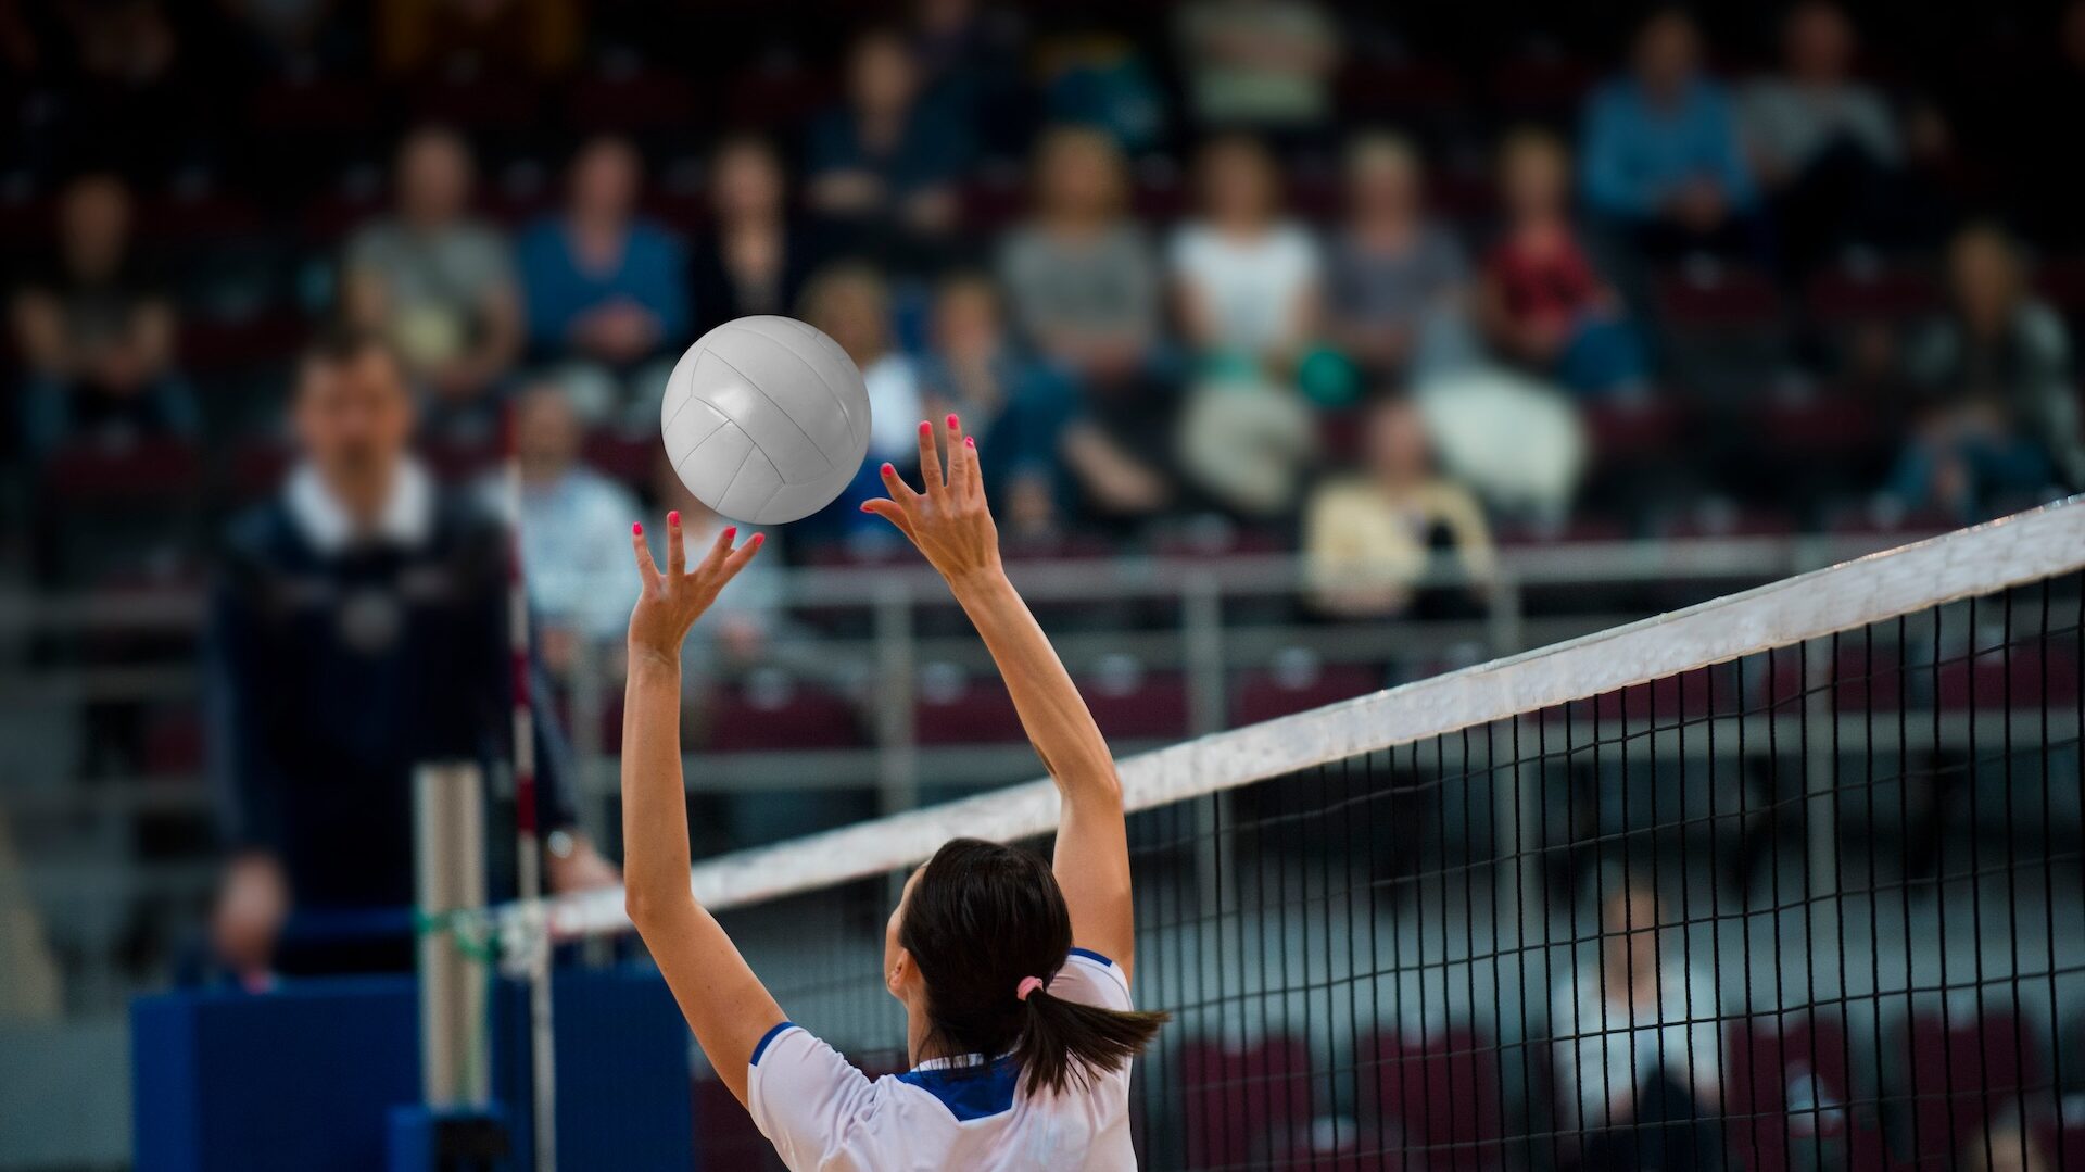
[[[659,972],[555,980],[557,1128],[565,1168],[686,1168],[688,1028]],[[528,1168],[528,991],[494,982],[492,1097]],[[392,1107],[419,1101],[411,976],[288,980],[275,993],[131,1003],[138,1172],[384,1168]]]

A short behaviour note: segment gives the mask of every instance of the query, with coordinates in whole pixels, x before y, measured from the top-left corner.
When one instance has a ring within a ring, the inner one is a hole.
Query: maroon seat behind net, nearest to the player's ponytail
[[[1180,1047],[1188,1168],[1266,1166],[1311,1118],[1309,1045],[1289,1034]]]

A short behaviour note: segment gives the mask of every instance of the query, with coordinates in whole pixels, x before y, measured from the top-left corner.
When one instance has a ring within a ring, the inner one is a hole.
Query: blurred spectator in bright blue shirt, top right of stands
[[[1701,73],[1701,33],[1683,10],[1649,17],[1630,73],[1589,100],[1583,165],[1591,211],[1651,254],[1758,252],[1737,119]]]

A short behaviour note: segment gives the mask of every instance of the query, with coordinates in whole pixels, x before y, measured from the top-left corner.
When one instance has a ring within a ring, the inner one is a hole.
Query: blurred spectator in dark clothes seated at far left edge
[[[75,179],[54,236],[15,290],[25,453],[81,436],[194,436],[196,402],[173,369],[173,300],[131,242],[129,188]]]

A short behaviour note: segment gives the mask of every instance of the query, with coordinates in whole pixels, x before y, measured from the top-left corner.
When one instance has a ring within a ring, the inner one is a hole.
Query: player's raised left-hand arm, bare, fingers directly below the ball
[[[630,920],[665,974],[717,1076],[740,1103],[753,1047],[780,1024],[782,1007],[688,888],[688,792],[680,774],[680,646],[688,628],[761,548],[732,548],[723,530],[688,569],[680,513],[667,513],[665,571],[632,526],[642,594],[630,613],[630,684],[623,699],[623,884]]]

